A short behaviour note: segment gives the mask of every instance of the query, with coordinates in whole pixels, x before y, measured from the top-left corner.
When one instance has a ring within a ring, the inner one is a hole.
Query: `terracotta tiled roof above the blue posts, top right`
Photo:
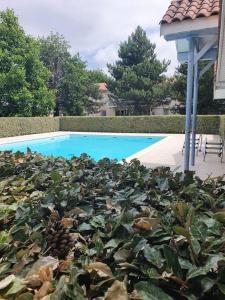
[[[218,15],[220,0],[173,0],[161,24]]]

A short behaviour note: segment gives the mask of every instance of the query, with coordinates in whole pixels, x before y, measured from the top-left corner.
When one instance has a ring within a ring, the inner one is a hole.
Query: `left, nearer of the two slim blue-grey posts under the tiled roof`
[[[184,172],[189,171],[189,166],[190,166],[190,129],[191,129],[191,106],[192,106],[192,97],[193,97],[194,50],[195,50],[195,41],[194,38],[190,38],[189,52],[188,52],[188,74],[187,74]]]

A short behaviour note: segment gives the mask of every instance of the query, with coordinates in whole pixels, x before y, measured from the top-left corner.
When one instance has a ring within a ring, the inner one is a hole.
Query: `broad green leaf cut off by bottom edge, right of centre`
[[[143,300],[173,300],[162,289],[150,282],[140,281],[135,284],[135,289],[142,296]]]

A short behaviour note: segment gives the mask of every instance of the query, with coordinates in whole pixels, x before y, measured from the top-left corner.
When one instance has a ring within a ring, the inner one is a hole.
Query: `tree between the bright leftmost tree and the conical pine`
[[[51,33],[39,42],[40,58],[52,74],[49,87],[56,90],[55,115],[91,112],[99,97],[95,83],[103,78],[103,73],[88,71],[78,54],[71,55],[69,43],[58,33]]]

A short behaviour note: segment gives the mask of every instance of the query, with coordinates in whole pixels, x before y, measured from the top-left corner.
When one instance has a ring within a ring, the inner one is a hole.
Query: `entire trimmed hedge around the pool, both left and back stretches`
[[[185,116],[0,118],[0,137],[54,131],[182,133]],[[225,116],[198,116],[197,132],[225,134]]]

